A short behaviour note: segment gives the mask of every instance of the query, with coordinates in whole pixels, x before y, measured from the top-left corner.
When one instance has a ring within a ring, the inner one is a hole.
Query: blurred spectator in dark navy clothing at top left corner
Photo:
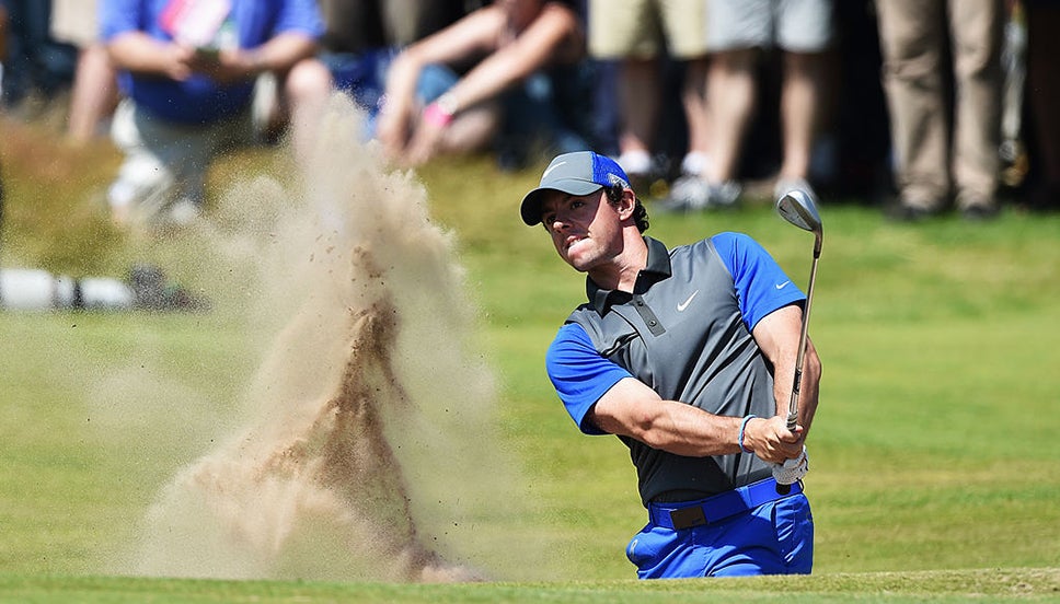
[[[3,106],[35,117],[73,79],[77,49],[51,38],[50,0],[0,0],[8,13]]]

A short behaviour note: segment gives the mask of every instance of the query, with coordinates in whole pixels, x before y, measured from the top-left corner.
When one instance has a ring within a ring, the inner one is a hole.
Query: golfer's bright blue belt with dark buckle
[[[796,481],[787,495],[776,492],[776,480],[767,478],[698,501],[681,503],[648,503],[648,519],[657,526],[681,531],[721,522],[736,514],[753,510],[763,503],[803,492]]]

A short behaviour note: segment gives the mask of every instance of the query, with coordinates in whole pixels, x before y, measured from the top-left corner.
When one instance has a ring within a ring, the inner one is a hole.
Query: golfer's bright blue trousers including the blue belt
[[[759,497],[748,497],[750,489]],[[793,489],[759,503],[767,489],[775,492],[771,478],[701,501],[650,504],[648,524],[626,547],[637,577],[808,574],[814,566],[809,501],[802,489]],[[721,504],[714,501],[718,497]]]

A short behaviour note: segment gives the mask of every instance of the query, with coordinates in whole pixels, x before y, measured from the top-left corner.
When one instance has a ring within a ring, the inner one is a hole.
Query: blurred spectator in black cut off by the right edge
[[[1034,209],[1060,209],[1060,1],[1023,0],[1027,24],[1026,102],[1032,161],[1029,201]]]

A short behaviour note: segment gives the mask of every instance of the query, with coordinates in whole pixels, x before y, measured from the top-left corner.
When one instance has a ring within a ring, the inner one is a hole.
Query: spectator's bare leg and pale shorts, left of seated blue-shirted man
[[[53,0],[51,37],[78,49],[67,137],[88,142],[103,130],[118,102],[117,73],[100,40],[95,0]]]

